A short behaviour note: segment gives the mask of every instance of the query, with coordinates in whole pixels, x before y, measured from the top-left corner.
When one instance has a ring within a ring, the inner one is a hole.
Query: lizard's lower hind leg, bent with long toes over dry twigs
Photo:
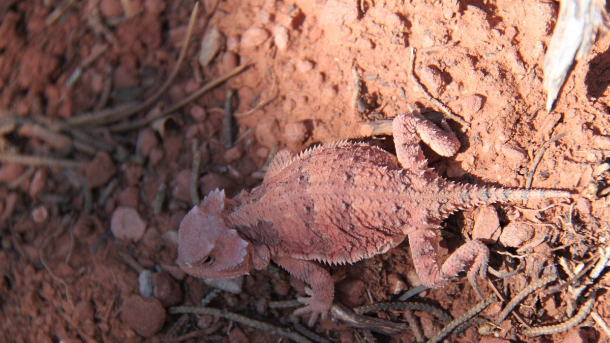
[[[467,242],[454,251],[439,268],[436,261],[436,230],[431,227],[418,229],[409,233],[408,237],[415,270],[425,286],[443,287],[452,278],[465,271],[477,297],[483,298],[476,283],[477,274],[480,274],[481,278],[486,277],[489,262],[489,249],[483,242],[478,239]]]

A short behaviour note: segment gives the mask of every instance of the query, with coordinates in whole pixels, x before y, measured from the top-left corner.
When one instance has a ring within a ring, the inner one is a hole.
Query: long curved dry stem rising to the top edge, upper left
[[[169,88],[170,85],[174,82],[174,78],[176,78],[176,75],[178,74],[178,71],[182,65],[182,62],[184,61],[184,57],[186,56],[188,43],[190,41],[191,34],[193,33],[193,25],[195,24],[195,18],[197,16],[198,9],[199,9],[199,2],[195,2],[195,7],[193,7],[193,12],[191,13],[190,19],[188,20],[187,33],[186,33],[186,35],[184,37],[184,41],[182,43],[182,49],[180,50],[180,54],[178,56],[178,61],[176,61],[176,65],[175,65],[174,69],[171,71],[170,76],[168,76],[165,83],[163,83],[163,85],[161,85],[161,87],[159,88],[159,90],[157,90],[156,93],[154,93],[150,98],[146,99],[146,101],[144,101],[142,104],[139,104],[137,106],[121,106],[121,107],[115,107],[114,109],[110,109],[110,110],[106,110],[106,111],[102,111],[102,112],[93,112],[91,114],[83,114],[83,115],[79,115],[77,117],[73,117],[73,118],[66,120],[66,123],[68,123],[68,125],[71,125],[71,126],[86,125],[86,124],[93,123],[95,121],[103,121],[106,118],[110,118],[110,117],[113,118],[113,121],[119,121],[119,120],[129,117],[130,115],[133,115],[137,112],[145,110],[146,108],[148,108],[149,106],[154,104],[157,101],[157,99],[159,99],[160,96],[163,95],[163,93],[165,93],[165,91],[167,91],[167,88]]]

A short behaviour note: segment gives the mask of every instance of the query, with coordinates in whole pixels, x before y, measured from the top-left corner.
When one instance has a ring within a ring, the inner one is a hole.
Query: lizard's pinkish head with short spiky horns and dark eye
[[[185,215],[178,231],[178,265],[199,278],[235,278],[252,267],[251,244],[224,220],[224,190]]]

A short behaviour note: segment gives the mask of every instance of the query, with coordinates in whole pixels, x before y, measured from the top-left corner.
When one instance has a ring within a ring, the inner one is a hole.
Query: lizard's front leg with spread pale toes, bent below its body
[[[308,283],[314,295],[311,298],[300,300],[307,304],[304,308],[295,311],[296,316],[311,312],[309,318],[309,327],[313,327],[318,316],[321,315],[325,320],[328,316],[328,311],[331,309],[332,299],[335,296],[335,286],[332,283],[331,275],[320,265],[312,261],[296,259],[291,257],[274,257],[273,261],[279,266],[287,270],[301,281]]]

